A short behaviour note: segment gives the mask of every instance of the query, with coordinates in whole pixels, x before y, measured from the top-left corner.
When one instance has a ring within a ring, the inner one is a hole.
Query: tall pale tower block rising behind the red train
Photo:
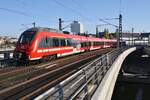
[[[73,21],[71,24],[71,32],[75,34],[84,33],[83,25],[78,21]]]

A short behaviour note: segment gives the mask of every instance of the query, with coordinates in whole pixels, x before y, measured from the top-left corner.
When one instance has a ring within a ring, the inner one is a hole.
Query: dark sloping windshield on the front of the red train
[[[30,43],[36,32],[35,31],[25,31],[19,38],[19,43]]]

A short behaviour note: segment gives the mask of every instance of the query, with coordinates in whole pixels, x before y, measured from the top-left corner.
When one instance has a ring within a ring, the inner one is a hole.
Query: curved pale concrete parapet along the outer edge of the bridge
[[[119,57],[114,61],[111,68],[104,76],[101,84],[99,85],[95,94],[92,96],[92,100],[111,100],[111,96],[113,93],[117,76],[119,74],[119,70],[121,69],[121,65],[125,58],[135,50],[136,47],[132,47],[130,49],[125,50],[122,54],[119,55]]]

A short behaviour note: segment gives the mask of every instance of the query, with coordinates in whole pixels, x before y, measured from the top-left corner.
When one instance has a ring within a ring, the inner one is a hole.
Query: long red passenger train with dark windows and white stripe
[[[23,32],[14,50],[16,60],[53,59],[60,56],[116,46],[116,40],[63,34],[50,28]]]

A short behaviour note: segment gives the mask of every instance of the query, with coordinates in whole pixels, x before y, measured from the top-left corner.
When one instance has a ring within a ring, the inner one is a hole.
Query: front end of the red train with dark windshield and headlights
[[[30,53],[32,51],[32,44],[36,31],[26,30],[21,34],[14,50],[14,59],[17,61],[29,60]]]

